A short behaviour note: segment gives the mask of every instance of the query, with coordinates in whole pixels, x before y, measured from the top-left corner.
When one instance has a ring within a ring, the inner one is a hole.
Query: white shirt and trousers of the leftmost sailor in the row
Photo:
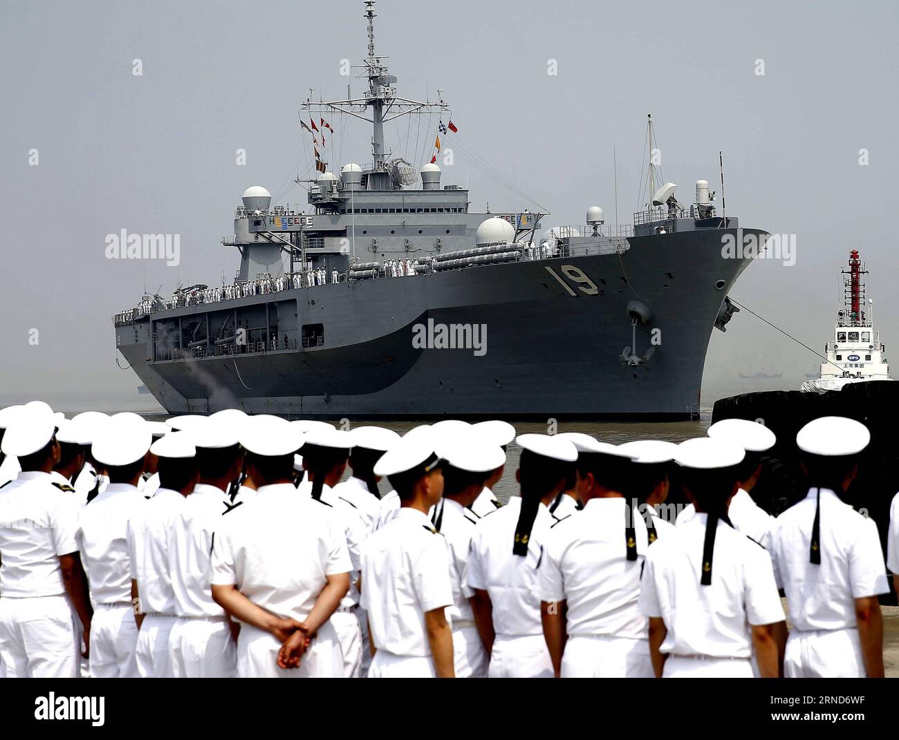
[[[45,472],[0,489],[0,677],[75,678],[78,656],[60,555],[78,550],[78,507]]]

